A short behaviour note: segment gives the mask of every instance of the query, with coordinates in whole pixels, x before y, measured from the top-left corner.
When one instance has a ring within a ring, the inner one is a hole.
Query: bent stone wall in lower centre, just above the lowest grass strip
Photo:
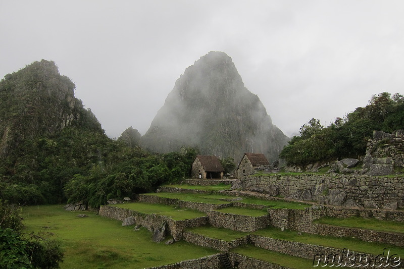
[[[244,236],[229,242],[217,238],[206,237],[189,231],[183,232],[182,239],[197,246],[211,247],[220,251],[228,251],[231,248],[249,243],[248,236]]]

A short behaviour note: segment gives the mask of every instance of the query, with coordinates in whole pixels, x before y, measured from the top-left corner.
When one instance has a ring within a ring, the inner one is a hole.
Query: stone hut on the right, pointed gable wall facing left
[[[269,162],[262,153],[244,153],[237,168],[238,178],[253,175],[259,170],[268,170]]]

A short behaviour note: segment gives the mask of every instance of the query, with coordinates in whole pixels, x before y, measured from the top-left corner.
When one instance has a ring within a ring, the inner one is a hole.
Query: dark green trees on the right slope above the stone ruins
[[[280,154],[287,165],[305,167],[316,162],[364,155],[374,130],[391,133],[404,126],[404,96],[383,92],[369,104],[324,128],[312,118],[300,128]]]

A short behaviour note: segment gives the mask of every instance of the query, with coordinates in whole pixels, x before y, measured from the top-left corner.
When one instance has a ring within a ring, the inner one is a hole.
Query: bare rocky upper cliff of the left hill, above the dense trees
[[[100,129],[74,97],[74,88],[54,62],[45,60],[6,75],[0,82],[0,156],[27,139],[54,135],[74,122],[93,121]]]

